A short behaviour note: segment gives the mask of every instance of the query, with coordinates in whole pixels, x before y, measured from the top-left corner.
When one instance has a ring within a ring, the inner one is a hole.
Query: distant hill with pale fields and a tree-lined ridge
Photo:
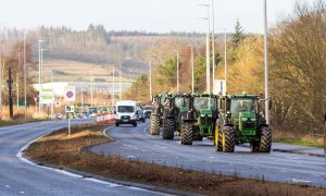
[[[23,32],[10,29],[8,42],[22,40]],[[35,61],[38,61],[38,39],[41,38],[45,59],[60,66],[60,62],[71,61],[98,64],[123,70],[123,75],[135,78],[148,72],[146,51],[161,42],[174,39],[202,44],[204,35],[196,33],[156,34],[147,32],[106,30],[102,25],[89,25],[86,30],[68,27],[39,27],[27,33],[27,42],[33,45]],[[55,62],[58,60],[58,62]],[[79,63],[71,63],[77,66]],[[76,79],[76,78],[75,78]]]

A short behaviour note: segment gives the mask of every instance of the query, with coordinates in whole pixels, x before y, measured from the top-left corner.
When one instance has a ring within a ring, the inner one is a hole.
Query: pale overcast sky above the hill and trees
[[[314,0],[305,0],[313,2]],[[103,24],[108,30],[158,33],[204,32],[211,0],[0,0],[0,24],[17,28],[68,26],[86,29]],[[291,13],[296,0],[267,0],[268,25]],[[247,33],[263,32],[263,0],[214,0],[216,32],[234,30],[239,19]]]

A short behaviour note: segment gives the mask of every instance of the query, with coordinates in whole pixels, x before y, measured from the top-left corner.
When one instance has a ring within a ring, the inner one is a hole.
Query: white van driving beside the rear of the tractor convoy
[[[115,126],[120,124],[133,124],[137,126],[137,101],[117,101],[115,111]]]

